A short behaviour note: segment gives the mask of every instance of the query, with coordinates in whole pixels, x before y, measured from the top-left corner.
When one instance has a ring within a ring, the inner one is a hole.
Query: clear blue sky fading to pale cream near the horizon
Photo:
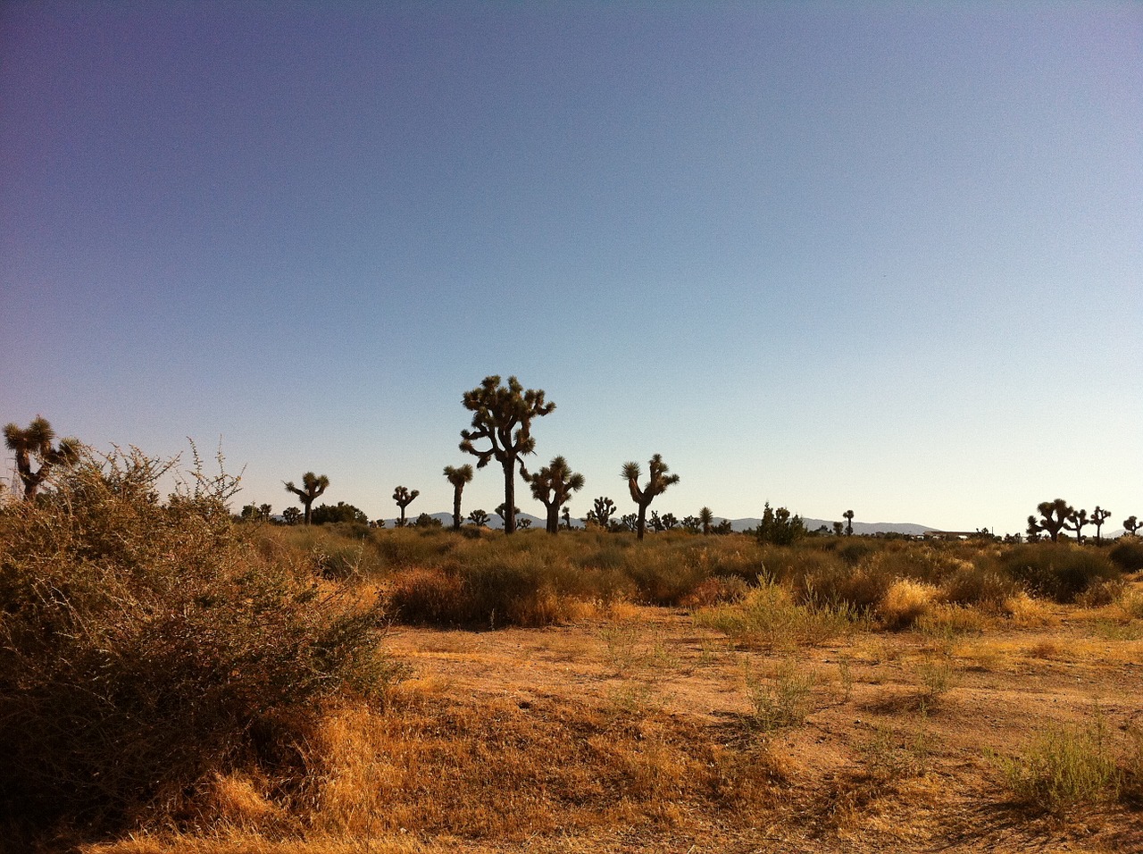
[[[0,422],[235,505],[450,510],[515,375],[574,517],[1143,514],[1136,2],[9,0],[0,257]]]

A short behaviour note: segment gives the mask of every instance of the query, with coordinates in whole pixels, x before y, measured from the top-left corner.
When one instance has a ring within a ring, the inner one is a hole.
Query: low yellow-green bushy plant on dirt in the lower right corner
[[[1062,812],[1119,793],[1119,769],[1102,716],[1082,725],[1049,725],[1018,755],[991,758],[1016,798],[1041,809]]]

